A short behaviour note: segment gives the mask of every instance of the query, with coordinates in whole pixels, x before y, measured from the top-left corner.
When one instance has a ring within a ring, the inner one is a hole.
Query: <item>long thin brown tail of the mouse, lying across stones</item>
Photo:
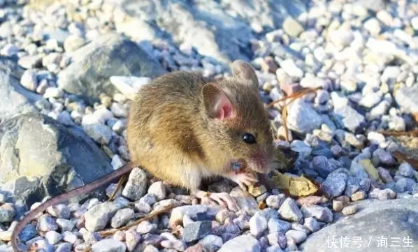
[[[74,198],[77,195],[86,194],[90,191],[94,191],[96,188],[99,188],[101,186],[104,186],[105,184],[108,184],[110,181],[113,181],[113,179],[117,179],[118,177],[127,174],[130,172],[134,166],[131,163],[127,163],[127,165],[122,166],[122,168],[119,168],[115,170],[114,172],[109,173],[108,175],[101,177],[100,179],[97,179],[96,181],[92,181],[89,184],[85,184],[84,186],[80,186],[78,188],[75,188],[71,191],[68,191],[62,195],[58,195],[54,198],[50,198],[49,200],[43,202],[41,205],[36,207],[35,209],[31,210],[27,215],[25,215],[19,223],[15,226],[12,232],[11,237],[11,244],[13,247],[13,251],[20,252],[17,248],[17,236],[20,234],[24,226],[26,226],[31,220],[36,218],[38,214],[41,214],[44,212],[48,207],[53,205],[58,205],[59,203],[64,202],[65,200],[69,200],[71,198]]]

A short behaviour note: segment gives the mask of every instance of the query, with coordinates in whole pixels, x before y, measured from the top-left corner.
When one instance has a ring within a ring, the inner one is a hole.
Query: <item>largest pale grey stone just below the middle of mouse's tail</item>
[[[91,232],[102,230],[117,212],[114,202],[103,202],[95,205],[85,213],[85,228]]]

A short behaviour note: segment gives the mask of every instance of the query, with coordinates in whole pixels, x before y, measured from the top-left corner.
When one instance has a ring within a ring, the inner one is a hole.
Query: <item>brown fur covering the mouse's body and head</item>
[[[202,177],[222,175],[233,158],[256,151],[272,154],[268,115],[258,96],[254,70],[243,61],[232,65],[233,77],[209,80],[199,73],[175,72],[140,89],[131,103],[127,142],[134,165],[175,186],[197,189]],[[216,88],[222,89],[236,117],[219,122],[208,111]],[[205,94],[206,92],[206,94]],[[240,133],[256,135],[246,144]]]

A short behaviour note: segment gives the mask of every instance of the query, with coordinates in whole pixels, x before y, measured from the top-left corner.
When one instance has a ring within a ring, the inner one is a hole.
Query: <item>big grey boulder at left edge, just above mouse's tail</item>
[[[112,171],[109,158],[77,126],[66,128],[42,114],[0,124],[0,188],[13,193],[17,205],[59,195]]]

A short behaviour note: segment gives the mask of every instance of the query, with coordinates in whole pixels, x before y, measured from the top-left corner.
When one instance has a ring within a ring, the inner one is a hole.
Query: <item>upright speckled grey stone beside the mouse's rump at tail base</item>
[[[147,190],[147,175],[140,168],[134,168],[122,191],[122,195],[129,200],[139,200]]]

